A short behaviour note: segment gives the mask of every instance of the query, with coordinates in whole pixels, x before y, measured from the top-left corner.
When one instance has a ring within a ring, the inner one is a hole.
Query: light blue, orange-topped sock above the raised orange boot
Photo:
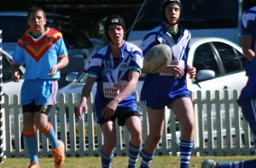
[[[46,128],[44,129],[44,131],[41,131],[41,133],[49,138],[49,141],[52,144],[52,148],[58,148],[61,146],[61,143],[59,142],[58,137],[55,134],[55,130],[50,123],[47,124]]]

